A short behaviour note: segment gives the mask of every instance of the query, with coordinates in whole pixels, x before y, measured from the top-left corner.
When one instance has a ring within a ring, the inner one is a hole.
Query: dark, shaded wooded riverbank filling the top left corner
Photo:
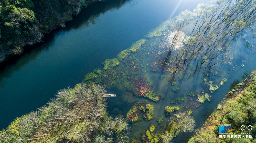
[[[0,9],[0,64],[20,55],[25,46],[42,42],[44,35],[78,15],[81,9],[105,0],[5,1]]]

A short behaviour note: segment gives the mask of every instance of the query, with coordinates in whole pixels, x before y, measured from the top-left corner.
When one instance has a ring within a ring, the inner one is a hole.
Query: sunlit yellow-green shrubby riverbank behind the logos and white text
[[[230,85],[231,90],[226,97],[206,119],[200,130],[196,130],[188,143],[256,141],[255,70],[244,78],[242,82],[234,81]]]

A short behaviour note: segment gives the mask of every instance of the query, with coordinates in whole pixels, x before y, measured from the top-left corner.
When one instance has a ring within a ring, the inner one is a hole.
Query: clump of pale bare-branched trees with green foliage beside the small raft
[[[128,123],[123,117],[108,115],[103,93],[100,85],[85,88],[77,84],[73,89],[62,89],[47,105],[16,118],[3,129],[0,142],[127,142]]]

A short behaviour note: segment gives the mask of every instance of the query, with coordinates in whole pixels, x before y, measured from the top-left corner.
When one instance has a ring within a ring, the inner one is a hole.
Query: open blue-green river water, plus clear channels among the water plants
[[[0,128],[6,128],[16,117],[24,115],[47,103],[54,97],[57,90],[73,87],[82,81],[83,77],[93,69],[103,66],[105,59],[115,58],[122,50],[144,36],[158,24],[172,18],[182,10],[193,10],[197,4],[205,1],[170,1],[170,0],[109,0],[90,6],[73,21],[45,36],[44,42],[29,47],[23,55],[9,61],[0,69]],[[245,35],[244,38],[250,38]],[[238,59],[241,53],[246,53],[243,41],[234,46],[233,56]],[[240,51],[240,52],[238,52]],[[245,56],[245,54],[242,54]],[[192,116],[197,121],[197,127],[204,122],[204,112],[208,108],[215,108],[218,102],[228,92],[230,83],[245,71],[256,67],[253,62],[255,55],[247,56],[245,66],[234,73],[228,81],[212,94],[210,102],[205,101]],[[148,70],[150,71],[150,70]],[[147,100],[154,105],[155,118],[149,122],[134,126],[131,137],[140,137],[143,131],[157,118],[164,116],[164,108],[170,105],[175,97],[184,97],[187,92],[202,90],[200,76],[177,82],[183,87],[178,93],[173,87],[159,79],[159,73],[148,72],[150,86],[162,94],[164,99],[159,103],[146,98],[138,98],[125,89],[107,88],[110,93],[118,96],[108,102],[108,110],[112,116],[126,116],[127,111],[140,100]],[[182,104],[177,104],[181,109]],[[165,116],[165,122],[168,121]],[[157,128],[159,129],[161,123]],[[185,135],[184,135],[185,136]],[[182,139],[182,135],[174,138]]]

